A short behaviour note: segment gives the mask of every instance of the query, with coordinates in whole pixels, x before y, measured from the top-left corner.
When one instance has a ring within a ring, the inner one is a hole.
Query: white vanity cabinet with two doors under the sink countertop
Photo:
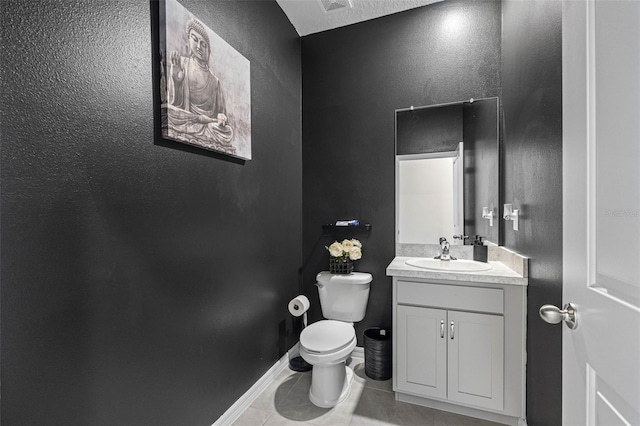
[[[524,282],[394,276],[396,399],[526,424]]]

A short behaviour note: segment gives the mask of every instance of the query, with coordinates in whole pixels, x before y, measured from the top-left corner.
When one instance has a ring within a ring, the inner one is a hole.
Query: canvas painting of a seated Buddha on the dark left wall
[[[163,9],[163,136],[250,159],[249,62],[176,1]]]

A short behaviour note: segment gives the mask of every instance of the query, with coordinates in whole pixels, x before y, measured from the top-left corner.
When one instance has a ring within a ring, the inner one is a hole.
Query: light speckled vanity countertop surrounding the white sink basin
[[[416,266],[407,265],[409,259],[417,259],[415,257],[398,256],[387,266],[387,275],[393,277],[405,278],[422,278],[432,280],[446,280],[459,282],[480,282],[495,284],[510,284],[526,286],[528,278],[509,269],[502,262],[489,261],[492,268],[488,271],[478,272],[449,272],[435,271],[431,269],[418,268]]]

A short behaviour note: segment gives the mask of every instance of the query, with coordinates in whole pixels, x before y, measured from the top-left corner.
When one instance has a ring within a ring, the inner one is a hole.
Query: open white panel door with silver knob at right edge
[[[563,424],[640,425],[640,2],[563,2]]]

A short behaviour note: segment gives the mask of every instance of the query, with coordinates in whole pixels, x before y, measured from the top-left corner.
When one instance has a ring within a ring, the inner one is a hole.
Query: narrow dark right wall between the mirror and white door
[[[504,202],[520,209],[504,243],[528,256],[527,418],[562,423],[562,325],[538,316],[562,304],[562,4],[503,3]]]

